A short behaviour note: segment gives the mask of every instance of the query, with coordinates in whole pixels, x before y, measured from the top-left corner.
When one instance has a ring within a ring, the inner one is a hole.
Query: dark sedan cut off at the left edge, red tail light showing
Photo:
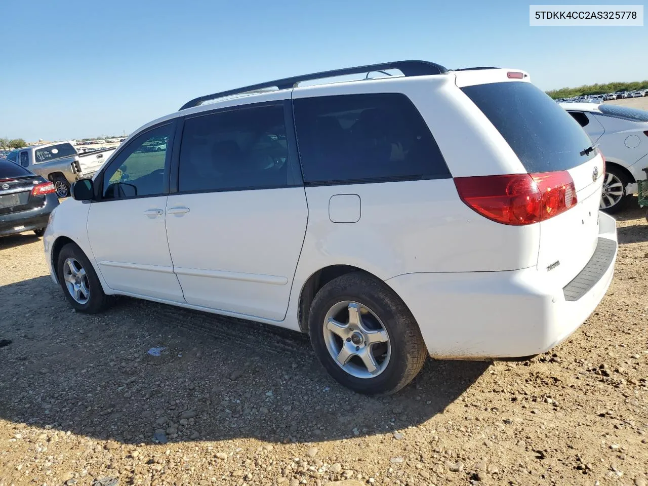
[[[54,184],[0,158],[0,236],[23,231],[42,236],[56,206]]]

